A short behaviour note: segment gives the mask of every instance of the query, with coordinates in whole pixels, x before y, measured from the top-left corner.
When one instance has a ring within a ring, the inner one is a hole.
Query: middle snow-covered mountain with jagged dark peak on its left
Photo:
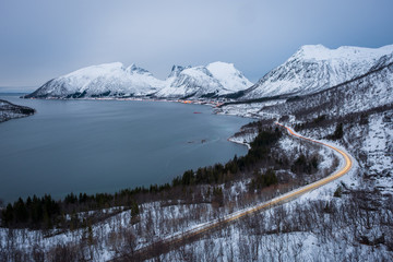
[[[172,67],[167,85],[157,97],[217,97],[250,87],[252,83],[233,63],[213,62],[206,67]]]

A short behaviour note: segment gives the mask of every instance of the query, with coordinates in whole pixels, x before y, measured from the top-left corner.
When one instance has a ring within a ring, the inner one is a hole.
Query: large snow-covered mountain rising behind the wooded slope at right
[[[302,46],[285,63],[245,91],[241,99],[312,94],[365,74],[393,45],[381,48]]]

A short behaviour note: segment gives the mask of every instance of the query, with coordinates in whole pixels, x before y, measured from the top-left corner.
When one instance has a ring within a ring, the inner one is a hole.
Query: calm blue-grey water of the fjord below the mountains
[[[5,202],[170,182],[187,169],[247,153],[227,138],[250,120],[216,116],[207,106],[0,98],[37,110],[0,123],[0,199]]]

